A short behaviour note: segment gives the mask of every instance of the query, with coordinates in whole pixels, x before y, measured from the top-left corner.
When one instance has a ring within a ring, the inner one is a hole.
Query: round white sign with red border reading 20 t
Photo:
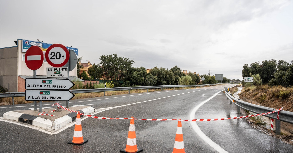
[[[61,44],[53,44],[47,49],[45,57],[51,66],[61,67],[68,62],[69,51]]]

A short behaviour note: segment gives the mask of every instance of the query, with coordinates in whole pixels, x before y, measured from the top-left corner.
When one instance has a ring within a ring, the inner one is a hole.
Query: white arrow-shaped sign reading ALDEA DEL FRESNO
[[[62,79],[25,79],[25,89],[68,90],[74,86],[70,80]]]

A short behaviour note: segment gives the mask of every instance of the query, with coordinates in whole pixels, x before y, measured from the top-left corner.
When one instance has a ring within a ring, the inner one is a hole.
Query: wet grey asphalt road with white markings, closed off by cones
[[[79,99],[70,105],[91,105],[93,108],[116,107],[97,113],[102,117],[131,117],[139,119],[225,118],[240,116],[234,104],[220,85],[197,89],[171,90],[117,96]],[[218,93],[218,94],[217,94]],[[213,98],[211,98],[214,96]],[[209,100],[208,100],[209,99]],[[208,101],[207,101],[208,100]],[[140,103],[138,103],[140,102]],[[50,107],[53,102],[43,103]],[[135,104],[132,104],[135,103]],[[65,103],[62,104],[66,105]],[[1,106],[0,117],[11,110],[33,108],[32,104]],[[21,106],[21,107],[19,107]],[[24,106],[24,107],[22,107]],[[135,120],[138,148],[143,152],[172,151],[177,121]],[[125,148],[130,120],[105,120],[86,118],[81,121],[84,139],[81,146],[69,145],[74,125],[48,134],[17,124],[0,121],[0,152],[119,152]],[[292,152],[293,146],[281,142],[252,128],[245,119],[210,122],[182,122],[185,152]]]

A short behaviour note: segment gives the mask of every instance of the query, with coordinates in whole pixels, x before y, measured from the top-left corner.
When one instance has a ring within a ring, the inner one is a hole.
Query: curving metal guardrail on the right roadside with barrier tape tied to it
[[[245,101],[241,101],[241,100],[236,99],[235,97],[231,96],[225,89],[224,89],[224,91],[225,91],[225,94],[228,97],[228,99],[230,99],[231,101],[234,100],[235,105],[237,105],[238,107],[243,108],[245,110],[248,110],[250,112],[261,114],[261,113],[272,112],[272,111],[276,110],[275,108],[264,107],[264,106],[260,106],[260,105],[247,103]],[[281,110],[279,112],[279,115],[280,115],[279,116],[280,121],[293,124],[293,112],[288,112],[288,111],[285,111],[285,110]],[[269,115],[263,115],[263,116],[273,118],[273,119],[277,119],[277,113],[273,113],[273,114],[269,114]]]

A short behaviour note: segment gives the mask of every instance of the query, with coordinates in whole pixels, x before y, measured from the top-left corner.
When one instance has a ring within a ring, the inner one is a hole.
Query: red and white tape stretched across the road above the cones
[[[69,112],[76,112],[74,110],[70,110],[68,108],[65,108],[63,106],[60,106],[59,104],[55,103],[54,105],[57,105],[59,108],[65,109]],[[52,106],[54,106],[52,105]],[[272,112],[266,112],[266,113],[262,113],[262,114],[255,114],[255,115],[247,115],[247,116],[240,116],[240,117],[228,117],[228,118],[216,118],[216,119],[192,119],[192,120],[180,120],[182,122],[202,122],[202,121],[219,121],[219,120],[227,120],[227,119],[239,119],[239,118],[246,118],[246,117],[253,117],[253,116],[261,116],[261,115],[268,115],[268,114],[272,114],[275,112],[278,112],[278,119],[279,119],[279,111],[282,110],[282,108],[280,109],[276,109],[276,111],[272,111]],[[78,112],[76,112],[78,113]],[[124,118],[111,118],[111,117],[99,117],[99,116],[94,116],[94,115],[88,115],[88,114],[83,114],[83,113],[78,113],[79,115],[83,115],[83,116],[88,116],[88,117],[92,117],[92,118],[97,118],[97,119],[136,119],[136,118],[131,118],[131,117],[124,117]],[[136,119],[136,120],[145,120],[145,121],[179,121],[179,119]]]

